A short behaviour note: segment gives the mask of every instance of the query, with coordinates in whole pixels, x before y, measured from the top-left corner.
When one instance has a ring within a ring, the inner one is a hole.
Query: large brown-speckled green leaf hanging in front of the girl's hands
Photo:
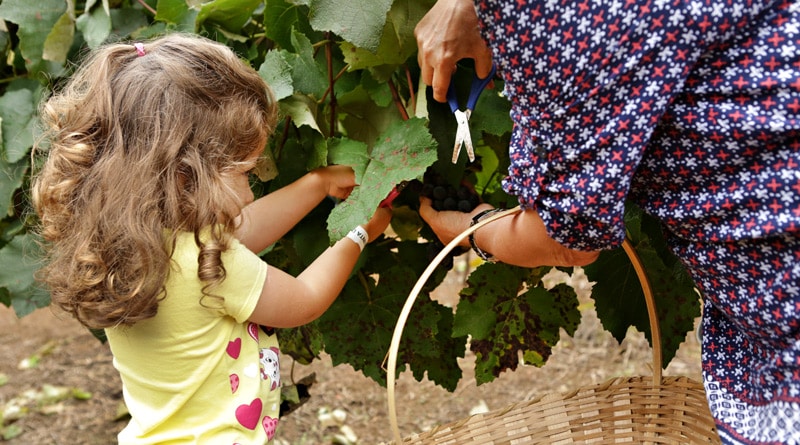
[[[422,176],[436,161],[433,145],[423,119],[413,118],[389,127],[372,148],[358,187],[328,217],[331,242],[368,221],[395,185]]]

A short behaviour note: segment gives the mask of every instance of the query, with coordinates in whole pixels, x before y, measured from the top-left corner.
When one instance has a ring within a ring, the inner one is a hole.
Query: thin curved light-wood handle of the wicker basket
[[[431,274],[433,274],[433,271],[436,269],[439,263],[441,263],[445,256],[447,256],[451,250],[458,246],[461,241],[464,240],[464,238],[468,237],[470,234],[492,221],[519,213],[520,211],[522,211],[522,208],[517,206],[512,209],[495,213],[494,215],[482,219],[478,223],[458,234],[439,252],[438,255],[436,255],[436,257],[434,257],[428,267],[425,268],[425,270],[422,272],[422,275],[420,275],[419,279],[417,279],[417,283],[411,289],[408,298],[406,298],[406,302],[403,305],[403,309],[400,311],[400,316],[397,319],[397,324],[394,327],[392,341],[389,345],[389,352],[386,358],[386,392],[389,403],[389,423],[392,427],[392,435],[396,445],[400,445],[403,442],[403,439],[400,436],[400,428],[397,423],[397,404],[394,391],[396,383],[395,375],[397,373],[397,354],[400,349],[400,338],[403,336],[403,329],[405,328],[406,321],[411,313],[411,307],[414,305],[414,301],[422,291],[422,286],[424,286],[425,282],[428,281],[428,278],[430,278]],[[650,281],[647,279],[647,274],[645,274],[641,259],[639,259],[639,255],[636,254],[636,250],[633,248],[627,237],[622,242],[622,247],[633,264],[633,268],[636,271],[637,277],[639,278],[639,283],[642,286],[642,291],[644,292],[645,302],[647,303],[647,313],[649,316],[650,330],[653,339],[653,387],[656,387],[661,383],[661,332],[658,327],[655,300],[653,299]]]

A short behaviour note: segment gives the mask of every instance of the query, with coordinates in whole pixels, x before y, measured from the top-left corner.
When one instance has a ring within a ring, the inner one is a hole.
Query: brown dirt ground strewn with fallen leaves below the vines
[[[452,273],[435,298],[453,304],[463,278]],[[583,319],[573,337],[562,332],[547,365],[524,366],[477,386],[474,357],[460,361],[464,378],[450,393],[403,373],[396,389],[400,430],[405,435],[554,391],[600,383],[623,375],[650,374],[651,350],[633,330],[617,343],[602,330],[585,276],[553,275],[579,292]],[[76,322],[41,309],[18,319],[0,306],[0,442],[12,444],[111,444],[125,426],[119,419],[122,392],[106,345]],[[700,378],[693,333],[667,367],[667,375]],[[292,367],[283,357],[285,381],[316,373],[310,400],[281,419],[278,445],[372,445],[392,440],[386,389],[346,365],[323,356]]]

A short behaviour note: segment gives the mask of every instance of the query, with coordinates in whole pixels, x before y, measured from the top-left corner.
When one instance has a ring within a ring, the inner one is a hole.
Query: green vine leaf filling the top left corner
[[[45,60],[42,55],[50,30],[65,11],[63,0],[4,0],[0,3],[0,18],[19,25],[19,50],[31,73],[63,73],[62,64]]]

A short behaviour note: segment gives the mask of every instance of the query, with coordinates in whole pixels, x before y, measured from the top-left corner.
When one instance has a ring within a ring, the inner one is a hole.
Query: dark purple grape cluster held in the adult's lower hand
[[[460,184],[454,186],[447,183],[441,176],[432,173],[430,170],[424,175],[420,195],[430,198],[431,206],[436,211],[459,211],[464,213],[472,212],[480,204],[480,196],[471,186]],[[444,244],[435,236],[428,242],[428,261],[432,261],[436,255],[444,248]],[[453,258],[469,250],[466,247],[458,246],[440,263],[446,270],[453,268]]]

